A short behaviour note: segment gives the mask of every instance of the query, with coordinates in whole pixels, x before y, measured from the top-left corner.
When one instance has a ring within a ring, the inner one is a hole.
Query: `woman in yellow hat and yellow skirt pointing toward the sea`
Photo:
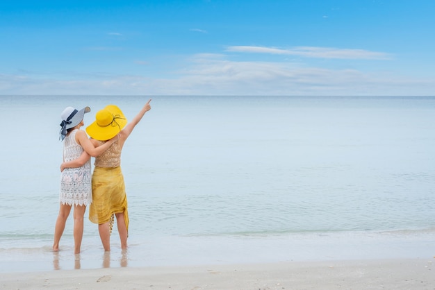
[[[92,204],[89,219],[98,223],[101,243],[105,251],[110,251],[110,232],[113,222],[117,220],[121,248],[127,247],[129,232],[129,214],[125,192],[124,176],[121,171],[121,153],[126,139],[146,112],[151,110],[151,99],[130,123],[116,105],[107,105],[95,115],[95,121],[86,128],[91,142],[101,146],[106,140],[118,135],[118,139],[104,153],[95,157],[95,168],[92,173]],[[79,158],[80,159],[80,158]],[[65,167],[75,167],[76,162],[66,162]]]

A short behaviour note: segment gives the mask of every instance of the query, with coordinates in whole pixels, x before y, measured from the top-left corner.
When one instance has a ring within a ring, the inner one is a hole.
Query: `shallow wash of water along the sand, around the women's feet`
[[[115,240],[105,253],[99,240],[74,255],[73,241],[59,252],[49,241],[0,248],[0,274],[98,268],[190,267],[315,261],[432,259],[435,232],[346,232],[270,237],[132,237],[127,250]],[[45,244],[45,245],[44,245]]]

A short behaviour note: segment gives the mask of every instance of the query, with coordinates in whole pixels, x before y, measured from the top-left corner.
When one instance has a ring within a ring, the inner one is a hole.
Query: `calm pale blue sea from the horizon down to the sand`
[[[131,120],[148,99],[122,153],[129,250],[115,227],[104,254],[87,210],[81,255],[72,214],[52,253],[60,113],[88,105],[88,126],[115,104]],[[435,97],[0,96],[0,108],[0,271],[435,254]]]

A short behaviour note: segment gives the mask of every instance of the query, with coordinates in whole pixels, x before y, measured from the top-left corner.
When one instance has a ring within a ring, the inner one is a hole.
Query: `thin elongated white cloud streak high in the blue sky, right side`
[[[366,51],[363,49],[334,49],[329,47],[298,46],[293,49],[275,49],[264,46],[229,46],[227,51],[240,53],[270,53],[290,56],[302,56],[305,58],[337,58],[337,59],[365,59],[365,60],[388,60],[388,53]]]

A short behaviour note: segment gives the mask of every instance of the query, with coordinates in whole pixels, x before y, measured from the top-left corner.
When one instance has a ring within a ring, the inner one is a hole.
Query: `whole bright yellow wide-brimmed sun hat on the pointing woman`
[[[127,119],[116,105],[106,105],[106,108],[95,114],[95,121],[86,127],[90,137],[106,141],[120,133],[126,126]]]

